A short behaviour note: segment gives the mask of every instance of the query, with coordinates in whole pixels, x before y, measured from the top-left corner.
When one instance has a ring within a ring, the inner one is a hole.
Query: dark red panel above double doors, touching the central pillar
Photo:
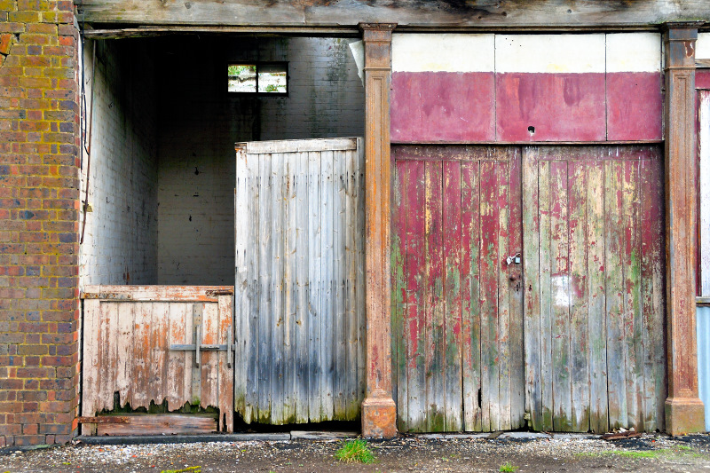
[[[492,72],[392,74],[392,141],[493,141],[493,83]]]

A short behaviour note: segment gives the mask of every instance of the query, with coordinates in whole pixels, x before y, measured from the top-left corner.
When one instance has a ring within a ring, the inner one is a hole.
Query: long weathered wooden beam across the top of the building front
[[[80,22],[144,25],[580,28],[710,18],[706,0],[75,0],[75,5]]]

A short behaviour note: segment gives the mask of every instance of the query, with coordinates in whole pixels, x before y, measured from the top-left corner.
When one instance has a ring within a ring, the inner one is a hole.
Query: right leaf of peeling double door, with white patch
[[[663,430],[662,167],[658,146],[524,150],[534,430]]]

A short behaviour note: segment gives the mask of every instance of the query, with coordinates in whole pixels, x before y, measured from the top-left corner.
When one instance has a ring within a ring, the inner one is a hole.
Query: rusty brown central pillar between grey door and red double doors
[[[365,44],[367,393],[362,435],[397,435],[390,353],[390,23],[361,23]]]

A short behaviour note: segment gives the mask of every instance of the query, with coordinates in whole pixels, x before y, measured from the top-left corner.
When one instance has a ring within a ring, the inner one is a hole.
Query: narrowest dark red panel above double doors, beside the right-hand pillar
[[[607,74],[608,139],[662,139],[662,86],[657,72]]]

